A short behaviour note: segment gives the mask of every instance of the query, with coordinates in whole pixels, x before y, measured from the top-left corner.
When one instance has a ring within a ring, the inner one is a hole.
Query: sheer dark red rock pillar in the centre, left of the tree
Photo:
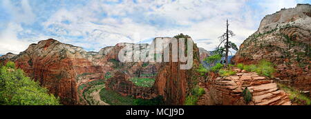
[[[166,105],[184,105],[186,96],[194,87],[198,76],[195,69],[200,64],[200,57],[198,47],[194,45],[193,48],[194,66],[191,69],[180,69],[183,63],[179,60],[178,62],[170,60],[168,63],[161,64],[156,77],[155,90],[157,94],[163,96]]]

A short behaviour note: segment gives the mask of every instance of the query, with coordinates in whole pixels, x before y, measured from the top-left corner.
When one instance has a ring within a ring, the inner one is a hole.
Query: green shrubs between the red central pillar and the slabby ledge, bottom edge
[[[205,94],[204,88],[201,87],[194,87],[194,89],[191,90],[191,94],[186,97],[185,105],[196,105],[198,102],[198,98]]]

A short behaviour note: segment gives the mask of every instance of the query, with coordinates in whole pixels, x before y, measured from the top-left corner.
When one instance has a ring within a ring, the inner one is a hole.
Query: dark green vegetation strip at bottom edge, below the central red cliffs
[[[144,100],[141,98],[134,99],[133,105],[164,105],[164,102],[162,96],[157,96],[156,98],[149,100]]]

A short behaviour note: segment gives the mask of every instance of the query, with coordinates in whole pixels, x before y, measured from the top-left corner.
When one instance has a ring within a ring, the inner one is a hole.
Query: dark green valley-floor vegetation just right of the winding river
[[[109,105],[133,105],[133,98],[102,88],[100,98]]]

